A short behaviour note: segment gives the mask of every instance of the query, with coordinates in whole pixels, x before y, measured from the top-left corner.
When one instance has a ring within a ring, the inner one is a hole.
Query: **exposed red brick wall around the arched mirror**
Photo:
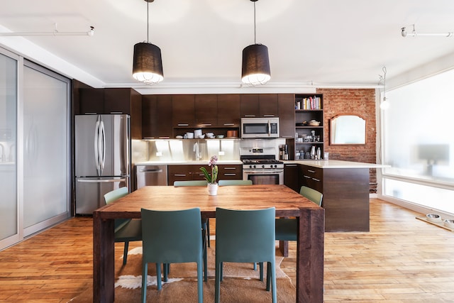
[[[323,94],[324,150],[333,160],[376,162],[377,123],[375,89],[317,89]],[[329,122],[339,114],[355,114],[366,120],[365,145],[329,145]],[[377,192],[377,173],[370,170],[370,192]]]

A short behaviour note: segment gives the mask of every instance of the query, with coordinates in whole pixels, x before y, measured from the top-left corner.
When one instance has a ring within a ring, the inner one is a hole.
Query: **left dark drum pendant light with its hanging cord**
[[[134,45],[133,77],[145,84],[157,84],[164,79],[162,73],[161,49],[148,41],[148,5],[147,2],[147,41]]]

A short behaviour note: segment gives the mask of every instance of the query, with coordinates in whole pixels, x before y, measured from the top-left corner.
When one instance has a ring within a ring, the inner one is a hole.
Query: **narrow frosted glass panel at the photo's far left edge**
[[[18,234],[16,104],[17,61],[0,54],[0,241]]]

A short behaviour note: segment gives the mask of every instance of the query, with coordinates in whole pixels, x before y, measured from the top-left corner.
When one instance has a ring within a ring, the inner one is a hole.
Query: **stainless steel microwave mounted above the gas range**
[[[241,118],[241,138],[279,138],[279,118]]]

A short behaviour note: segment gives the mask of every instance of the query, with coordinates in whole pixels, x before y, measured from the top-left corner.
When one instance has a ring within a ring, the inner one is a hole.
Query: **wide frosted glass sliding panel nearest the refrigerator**
[[[24,228],[68,211],[69,85],[24,66]]]

